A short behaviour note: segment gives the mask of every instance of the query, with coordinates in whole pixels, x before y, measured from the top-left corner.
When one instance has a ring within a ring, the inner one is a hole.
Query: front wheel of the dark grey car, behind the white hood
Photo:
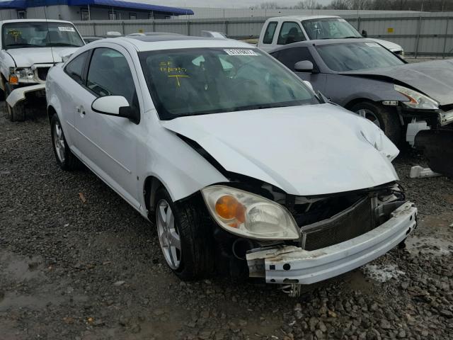
[[[357,113],[371,120],[376,124],[395,145],[401,140],[402,126],[396,111],[386,108],[380,104],[363,101],[357,103],[350,111]]]

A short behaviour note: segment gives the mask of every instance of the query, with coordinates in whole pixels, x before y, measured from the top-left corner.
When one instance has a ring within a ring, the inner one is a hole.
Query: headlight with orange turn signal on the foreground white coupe
[[[202,189],[214,220],[228,232],[250,239],[298,239],[299,228],[282,205],[228,186]]]

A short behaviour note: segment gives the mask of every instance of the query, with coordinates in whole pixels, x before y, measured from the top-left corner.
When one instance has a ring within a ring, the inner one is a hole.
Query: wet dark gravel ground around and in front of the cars
[[[452,339],[453,181],[409,179],[408,248],[290,298],[270,285],[182,283],[154,228],[88,170],[55,163],[41,113],[0,113],[0,339]]]

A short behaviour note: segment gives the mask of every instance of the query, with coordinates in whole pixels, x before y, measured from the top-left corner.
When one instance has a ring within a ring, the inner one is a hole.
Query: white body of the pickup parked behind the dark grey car
[[[304,26],[302,26],[302,21],[305,20],[313,20],[313,19],[323,19],[323,18],[341,18],[340,16],[279,16],[276,18],[268,18],[268,20],[264,23],[263,28],[261,28],[261,33],[260,37],[258,38],[258,48],[260,50],[263,50],[265,52],[269,52],[270,50],[274,50],[277,47],[281,47],[282,45],[277,45],[277,39],[278,39],[278,34],[280,33],[280,28],[282,27],[282,23],[290,21],[297,23],[299,27],[302,30],[302,33],[304,33],[305,39],[310,40],[309,35],[306,34]],[[273,37],[273,41],[270,44],[265,44],[263,43],[263,38],[265,35],[265,30],[268,27],[268,23],[271,21],[277,22],[277,28],[275,28],[275,33]],[[380,45],[384,46],[387,50],[391,50],[391,52],[403,52],[403,47],[400,45],[388,41],[388,40],[382,40],[382,39],[374,39],[374,38],[367,38],[369,40],[373,40]]]

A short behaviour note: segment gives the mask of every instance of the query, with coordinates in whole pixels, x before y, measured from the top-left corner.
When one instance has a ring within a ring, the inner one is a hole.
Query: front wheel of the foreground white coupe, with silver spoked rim
[[[201,197],[173,203],[160,188],[155,199],[156,229],[164,259],[181,280],[207,278],[214,273],[214,241]]]

